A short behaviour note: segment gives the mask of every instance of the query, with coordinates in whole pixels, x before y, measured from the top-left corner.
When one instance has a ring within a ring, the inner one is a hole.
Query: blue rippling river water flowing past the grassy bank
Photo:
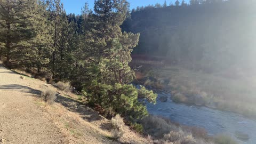
[[[246,118],[242,115],[230,111],[188,106],[173,102],[171,94],[157,92],[158,98],[167,96],[166,102],[161,102],[157,98],[156,105],[147,103],[150,114],[163,116],[183,125],[197,126],[204,128],[209,135],[229,134],[239,143],[256,144],[256,120]],[[236,132],[249,134],[249,140],[239,140],[235,137]]]

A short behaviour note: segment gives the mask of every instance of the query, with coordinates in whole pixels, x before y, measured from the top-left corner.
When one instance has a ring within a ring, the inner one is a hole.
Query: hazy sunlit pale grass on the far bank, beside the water
[[[179,67],[163,68],[155,74],[170,79],[169,88],[176,91],[174,94],[183,93],[190,99],[200,95],[206,106],[215,102],[219,109],[256,116],[256,86],[246,78],[231,79]]]

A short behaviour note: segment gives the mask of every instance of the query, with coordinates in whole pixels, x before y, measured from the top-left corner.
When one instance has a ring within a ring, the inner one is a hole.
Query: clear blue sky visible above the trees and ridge
[[[164,3],[164,0],[127,0],[127,1],[130,3],[131,9],[136,8],[137,6],[146,6],[149,4],[155,5],[156,3],[160,3],[160,4]],[[166,0],[167,5],[169,5],[171,2],[174,3],[175,1],[176,0]],[[94,0],[61,0],[61,2],[64,4],[64,7],[67,13],[75,13],[75,14],[81,13],[81,8],[84,6],[85,2],[89,3],[89,6],[91,9],[93,9],[93,5],[94,5]]]

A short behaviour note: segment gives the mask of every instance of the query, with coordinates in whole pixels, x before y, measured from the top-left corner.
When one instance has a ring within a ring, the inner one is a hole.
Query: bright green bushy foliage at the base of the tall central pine
[[[139,91],[139,92],[138,92]],[[157,95],[146,89],[137,90],[131,84],[108,84],[92,81],[83,93],[90,103],[98,104],[105,110],[111,109],[125,119],[133,121],[148,115],[146,106],[138,100],[138,94],[144,95],[149,102],[155,102]]]

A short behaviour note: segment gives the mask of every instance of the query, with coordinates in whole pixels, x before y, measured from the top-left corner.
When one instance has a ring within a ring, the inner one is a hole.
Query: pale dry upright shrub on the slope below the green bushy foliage
[[[115,139],[119,139],[123,136],[124,134],[124,121],[123,118],[120,115],[116,115],[111,119],[111,124],[113,126],[113,130],[111,133],[113,134],[113,137]]]

